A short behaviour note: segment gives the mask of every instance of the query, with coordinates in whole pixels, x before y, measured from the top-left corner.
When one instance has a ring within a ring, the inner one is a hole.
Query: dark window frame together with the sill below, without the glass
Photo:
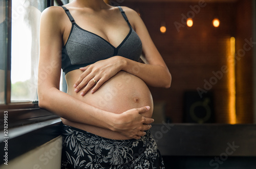
[[[46,8],[54,5],[54,0],[44,0]],[[40,109],[38,101],[11,102],[11,38],[12,0],[6,0],[7,53],[5,69],[4,103],[0,104],[0,147],[4,149],[4,112],[8,112],[8,162],[61,134],[60,117]],[[2,160],[3,164],[4,161]]]

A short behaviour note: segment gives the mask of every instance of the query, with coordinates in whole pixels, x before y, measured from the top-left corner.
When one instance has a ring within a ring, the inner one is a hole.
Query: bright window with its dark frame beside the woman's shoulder
[[[38,108],[40,15],[52,4],[0,0],[0,109]]]

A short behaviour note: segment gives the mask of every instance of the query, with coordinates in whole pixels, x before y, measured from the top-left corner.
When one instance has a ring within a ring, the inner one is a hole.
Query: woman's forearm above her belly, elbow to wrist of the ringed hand
[[[121,59],[123,60],[121,65],[122,70],[139,77],[147,85],[153,87],[170,87],[172,76],[166,67],[162,65],[144,64],[123,57]]]

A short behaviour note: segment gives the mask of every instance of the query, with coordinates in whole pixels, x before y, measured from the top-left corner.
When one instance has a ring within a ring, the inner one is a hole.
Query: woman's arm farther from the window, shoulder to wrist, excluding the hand
[[[124,60],[122,70],[138,76],[150,86],[169,88],[172,82],[172,76],[152,41],[144,22],[136,11],[127,7],[122,8],[135,29],[135,32],[141,39],[144,57],[148,62],[148,64],[143,64],[122,58]]]

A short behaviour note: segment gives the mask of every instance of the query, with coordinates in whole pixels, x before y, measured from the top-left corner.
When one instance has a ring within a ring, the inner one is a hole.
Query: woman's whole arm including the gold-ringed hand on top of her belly
[[[139,63],[121,56],[115,56],[80,68],[84,73],[79,77],[74,87],[76,88],[75,91],[78,92],[86,86],[81,91],[81,95],[86,94],[89,90],[91,90],[92,93],[95,92],[105,81],[109,80],[120,70],[127,71],[139,77],[147,85],[165,88],[170,87],[172,76],[153,43],[144,22],[136,11],[127,7],[122,8],[142,41],[144,56],[148,64]],[[91,80],[92,78],[98,80],[96,85]]]

